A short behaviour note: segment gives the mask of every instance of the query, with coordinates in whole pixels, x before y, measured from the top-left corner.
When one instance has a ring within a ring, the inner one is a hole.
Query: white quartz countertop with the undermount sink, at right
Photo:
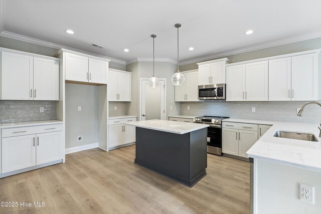
[[[321,138],[318,124],[292,122],[254,122],[255,120],[228,119],[230,122],[253,122],[272,125],[269,130],[246,152],[248,157],[287,164],[321,172]],[[228,121],[225,120],[225,121]],[[274,137],[276,131],[314,134],[319,142]]]

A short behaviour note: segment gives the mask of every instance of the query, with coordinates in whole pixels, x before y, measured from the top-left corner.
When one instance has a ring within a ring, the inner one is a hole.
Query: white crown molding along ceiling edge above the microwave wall
[[[280,46],[280,45],[286,45],[286,44],[290,44],[290,43],[294,43],[294,42],[315,39],[318,37],[321,37],[321,31],[310,33],[310,34],[299,35],[299,36],[295,36],[295,37],[290,37],[290,38],[286,38],[286,39],[282,39],[282,40],[276,40],[273,42],[263,43],[260,45],[254,45],[254,46],[250,46],[247,48],[241,48],[241,49],[236,49],[236,50],[232,50],[232,51],[213,54],[210,56],[200,57],[200,58],[196,58],[196,59],[192,59],[192,60],[182,61],[180,63],[180,65],[187,65],[187,64],[192,64],[192,63],[204,62],[206,60],[217,59],[219,57],[226,57],[226,56],[230,56],[230,55],[234,55],[234,54],[241,54],[241,53],[245,53],[245,52],[249,52],[249,51],[256,51],[256,50],[260,50],[260,49],[271,48],[271,47]]]

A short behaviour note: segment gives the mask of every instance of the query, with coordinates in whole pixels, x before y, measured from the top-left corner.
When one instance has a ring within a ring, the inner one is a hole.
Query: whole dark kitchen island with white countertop
[[[189,187],[206,175],[208,125],[168,120],[125,124],[136,126],[134,163]]]

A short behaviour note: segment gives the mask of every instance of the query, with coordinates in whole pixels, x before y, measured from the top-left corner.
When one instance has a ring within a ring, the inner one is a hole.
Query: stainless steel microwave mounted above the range
[[[200,100],[225,100],[225,84],[199,86]]]

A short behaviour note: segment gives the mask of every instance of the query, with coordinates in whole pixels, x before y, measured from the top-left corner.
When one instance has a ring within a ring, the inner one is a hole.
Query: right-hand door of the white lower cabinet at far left
[[[62,131],[36,135],[36,164],[63,159]]]

